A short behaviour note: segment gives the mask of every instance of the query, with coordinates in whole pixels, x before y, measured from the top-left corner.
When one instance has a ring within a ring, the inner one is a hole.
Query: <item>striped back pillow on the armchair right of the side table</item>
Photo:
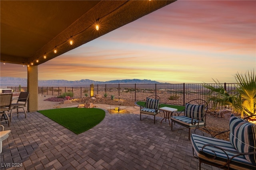
[[[202,120],[204,117],[204,105],[191,105],[186,103],[185,116],[190,118],[199,118],[199,120]]]

